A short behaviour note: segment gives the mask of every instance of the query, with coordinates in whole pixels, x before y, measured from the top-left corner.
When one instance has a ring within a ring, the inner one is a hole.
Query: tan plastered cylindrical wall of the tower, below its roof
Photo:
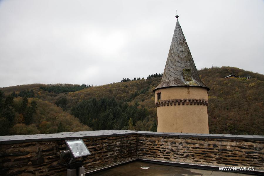
[[[160,94],[160,101],[157,93]],[[175,99],[182,99],[180,105]],[[184,100],[187,99],[187,100]],[[205,100],[205,103],[194,103],[195,100]],[[170,101],[168,103],[168,101]],[[172,101],[174,101],[172,103]],[[192,101],[192,104],[191,104]],[[157,131],[179,133],[209,133],[207,117],[207,89],[204,87],[169,87],[155,90],[157,106]],[[171,104],[172,103],[172,104]],[[176,104],[176,105],[175,105]]]

